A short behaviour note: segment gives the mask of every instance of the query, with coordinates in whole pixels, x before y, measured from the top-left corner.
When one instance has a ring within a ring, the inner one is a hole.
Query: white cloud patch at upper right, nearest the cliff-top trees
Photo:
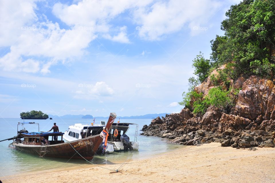
[[[221,3],[215,0],[170,0],[158,1],[150,8],[140,7],[134,12],[135,21],[141,25],[139,36],[147,40],[158,40],[167,34],[207,23]]]

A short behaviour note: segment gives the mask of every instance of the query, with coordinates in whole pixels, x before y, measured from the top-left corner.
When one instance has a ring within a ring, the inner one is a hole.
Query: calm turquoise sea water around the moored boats
[[[96,119],[95,123],[99,124],[100,121],[106,121],[107,119]],[[128,152],[114,152],[105,155],[96,155],[91,161],[94,164],[113,164],[124,162],[130,159],[143,159],[150,156],[171,151],[173,149],[182,147],[181,145],[174,145],[166,143],[159,137],[148,137],[139,135],[144,124],[149,125],[152,119],[120,119],[120,122],[128,122],[138,124],[138,136],[139,150]],[[20,118],[0,118],[0,140],[7,139],[17,135],[17,124],[23,122]],[[40,131],[48,131],[53,126],[53,123],[59,127],[59,131],[64,132],[68,129],[69,125],[75,123],[91,124],[91,120],[88,119],[53,119],[53,120],[25,120],[25,122],[38,122]],[[115,120],[117,122],[117,120]],[[38,131],[38,126],[34,124],[27,124],[24,127],[30,131]],[[22,126],[19,127],[19,130]],[[134,140],[135,125],[131,125],[127,135],[130,137],[130,141]],[[11,141],[0,142],[0,177],[22,174],[24,172],[50,170],[54,168],[71,168],[75,166],[87,167],[91,163],[85,160],[76,159],[62,159],[52,157],[39,157],[38,155],[29,155],[21,153],[14,148],[9,148],[8,145]],[[119,168],[120,164],[118,164]]]

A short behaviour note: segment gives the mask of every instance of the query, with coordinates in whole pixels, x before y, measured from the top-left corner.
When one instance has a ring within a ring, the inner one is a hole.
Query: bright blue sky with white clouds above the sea
[[[0,0],[0,118],[180,112],[240,0]]]

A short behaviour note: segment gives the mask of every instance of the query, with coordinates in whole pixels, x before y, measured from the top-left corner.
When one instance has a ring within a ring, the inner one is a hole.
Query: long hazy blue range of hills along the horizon
[[[160,114],[145,114],[141,116],[117,116],[117,118],[123,118],[123,119],[154,119],[158,116],[166,116],[166,114],[171,114],[171,113],[160,113]],[[93,117],[92,115],[72,115],[72,114],[66,114],[64,116],[57,116],[57,115],[51,115],[49,116],[53,119],[93,119],[93,118],[99,118],[99,119],[104,119],[108,117],[103,117],[103,116],[96,116]]]

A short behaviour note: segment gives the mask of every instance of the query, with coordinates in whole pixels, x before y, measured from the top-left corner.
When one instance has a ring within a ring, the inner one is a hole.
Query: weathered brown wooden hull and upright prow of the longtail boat
[[[111,113],[105,130],[110,129],[113,121],[115,120],[115,114]],[[45,156],[59,157],[59,158],[73,158],[73,159],[83,159],[87,160],[93,159],[99,145],[102,143],[103,138],[100,135],[95,135],[91,137],[86,137],[84,139],[60,143],[55,145],[46,145],[47,153]],[[25,145],[23,143],[13,143],[17,150],[30,153],[30,154],[40,154],[41,145]],[[77,151],[77,152],[76,152]],[[79,154],[78,154],[79,153]],[[81,157],[81,156],[82,157]]]

